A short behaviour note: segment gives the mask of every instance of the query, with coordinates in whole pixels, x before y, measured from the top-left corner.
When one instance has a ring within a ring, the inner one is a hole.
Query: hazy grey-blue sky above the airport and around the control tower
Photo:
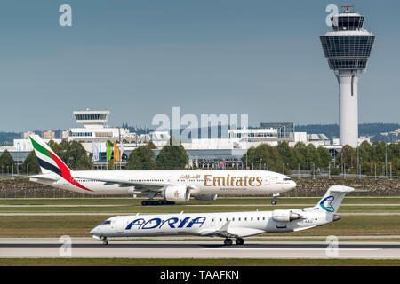
[[[61,27],[69,4],[72,26]],[[339,121],[319,36],[328,4],[376,35],[359,122],[400,122],[400,2],[2,0],[0,131],[68,129],[74,110],[152,127],[156,114],[248,114],[249,124]],[[341,9],[341,8],[340,8]]]

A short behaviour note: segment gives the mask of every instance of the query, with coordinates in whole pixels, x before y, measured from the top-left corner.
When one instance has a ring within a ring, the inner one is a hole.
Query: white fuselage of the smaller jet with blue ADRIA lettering
[[[231,234],[243,238],[260,233],[300,231],[333,221],[333,214],[325,212],[290,211],[299,214],[300,218],[276,221],[274,211],[116,216],[96,226],[91,234],[96,238],[182,234],[209,237]],[[225,233],[218,233],[220,230]]]

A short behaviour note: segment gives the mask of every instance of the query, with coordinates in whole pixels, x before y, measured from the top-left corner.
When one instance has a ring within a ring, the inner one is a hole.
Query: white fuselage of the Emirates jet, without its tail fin
[[[296,186],[289,177],[267,170],[80,170],[71,171],[71,176],[74,178],[52,174],[55,181],[35,177],[31,177],[30,180],[78,193],[92,194],[141,193],[146,185],[160,188],[168,185],[187,185],[194,196],[263,195],[284,193]],[[105,179],[140,183],[143,186],[105,182]],[[83,186],[76,186],[76,183]]]

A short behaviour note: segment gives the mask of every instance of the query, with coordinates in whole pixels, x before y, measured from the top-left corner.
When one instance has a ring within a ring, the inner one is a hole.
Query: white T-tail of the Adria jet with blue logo
[[[329,187],[324,197],[316,203],[313,209],[335,214],[338,212],[341,201],[343,201],[346,193],[352,192],[353,190],[353,187],[332,185]]]

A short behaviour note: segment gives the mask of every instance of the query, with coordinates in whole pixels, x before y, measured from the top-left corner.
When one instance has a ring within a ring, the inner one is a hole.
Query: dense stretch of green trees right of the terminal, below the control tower
[[[400,144],[385,142],[364,141],[360,146],[353,148],[343,146],[338,154],[331,154],[323,146],[317,148],[304,143],[296,143],[290,147],[287,142],[277,146],[266,144],[252,147],[243,157],[243,162],[253,169],[265,169],[286,173],[292,170],[331,170],[332,175],[341,172],[348,174],[364,174],[397,176],[400,173]],[[384,170],[382,170],[384,169]]]

